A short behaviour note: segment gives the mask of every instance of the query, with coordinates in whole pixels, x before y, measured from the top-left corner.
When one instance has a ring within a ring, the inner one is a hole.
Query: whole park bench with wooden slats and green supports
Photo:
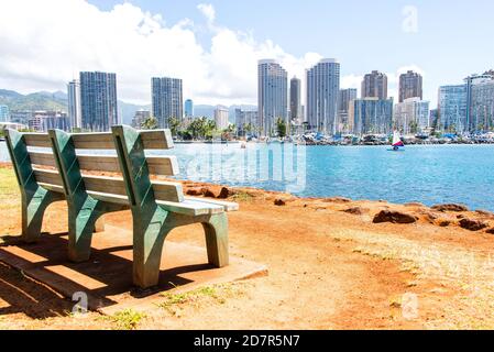
[[[31,199],[41,199],[36,202],[40,210],[30,210],[30,202],[23,210],[23,224],[24,218],[28,224],[32,222],[32,213],[40,222],[35,227],[26,227],[26,232],[23,226],[23,237],[28,241],[40,235],[47,205],[65,198],[68,205],[68,256],[72,261],[89,258],[92,232],[101,216],[130,208],[135,285],[146,288],[158,283],[166,235],[177,227],[191,223],[204,226],[209,263],[217,267],[228,265],[226,212],[238,210],[238,205],[185,197],[180,184],[150,178],[153,174],[178,174],[175,156],[146,156],[144,153],[145,150],[172,148],[168,130],[136,131],[120,125],[108,133],[68,134],[51,130],[48,134],[21,134],[9,130],[7,135],[21,191]],[[50,146],[53,153],[28,151],[28,145]],[[84,155],[79,150],[94,152]],[[95,150],[112,150],[117,155],[97,155]],[[33,164],[55,166],[56,170],[35,168]],[[121,176],[95,176],[86,170],[121,173]]]

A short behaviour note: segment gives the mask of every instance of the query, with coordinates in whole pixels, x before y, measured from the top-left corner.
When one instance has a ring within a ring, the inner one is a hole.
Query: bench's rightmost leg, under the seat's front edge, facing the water
[[[227,213],[211,216],[208,222],[202,222],[206,232],[206,246],[209,264],[216,267],[228,265],[228,217]]]

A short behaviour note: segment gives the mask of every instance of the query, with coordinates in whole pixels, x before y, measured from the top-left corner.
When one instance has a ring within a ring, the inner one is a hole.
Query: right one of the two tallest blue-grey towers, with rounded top
[[[340,64],[321,59],[307,70],[307,122],[311,131],[336,134]]]

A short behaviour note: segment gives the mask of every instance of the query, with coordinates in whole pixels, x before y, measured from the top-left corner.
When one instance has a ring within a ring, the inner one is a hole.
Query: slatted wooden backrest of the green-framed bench
[[[168,130],[139,131],[145,150],[167,150],[173,147]],[[12,162],[18,180],[24,186],[25,178],[34,177],[35,182],[50,190],[72,196],[78,190],[117,195],[127,198],[125,182],[121,176],[95,176],[87,172],[121,173],[119,156],[80,154],[85,150],[116,150],[113,134],[78,133],[68,134],[63,131],[48,133],[19,133],[8,131],[8,143],[12,144]],[[32,151],[28,147],[51,147],[51,152]],[[145,164],[150,174],[175,176],[178,163],[175,156],[147,156]],[[46,168],[50,167],[50,168]],[[30,175],[31,174],[31,175]],[[24,176],[24,177],[22,177]],[[182,186],[176,183],[153,182],[152,187],[157,200],[184,201]]]

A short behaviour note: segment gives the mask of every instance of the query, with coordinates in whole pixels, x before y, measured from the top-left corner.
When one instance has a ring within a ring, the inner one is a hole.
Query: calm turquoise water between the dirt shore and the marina
[[[494,211],[494,145],[294,146],[179,144],[180,177],[301,197],[461,202]],[[0,161],[9,161],[0,143]]]

